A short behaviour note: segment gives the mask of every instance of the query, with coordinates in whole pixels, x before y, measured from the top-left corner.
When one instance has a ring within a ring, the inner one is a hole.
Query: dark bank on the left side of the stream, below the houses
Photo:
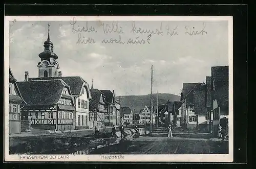
[[[124,136],[134,133],[134,129],[125,130]],[[117,131],[117,138],[121,136]],[[120,135],[120,136],[119,136]],[[54,133],[51,135],[33,135],[24,137],[9,137],[10,154],[49,154],[75,147],[104,143],[106,140],[115,141],[111,138],[111,129],[95,135],[94,132],[84,131],[70,133]]]

